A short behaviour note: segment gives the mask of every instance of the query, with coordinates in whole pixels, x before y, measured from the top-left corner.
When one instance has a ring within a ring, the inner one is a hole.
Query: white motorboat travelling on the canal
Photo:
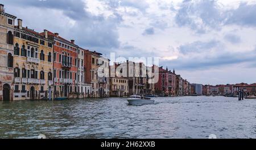
[[[129,105],[145,105],[145,104],[154,104],[155,101],[151,100],[149,97],[143,97],[138,95],[130,96],[130,98],[127,99],[129,102]]]

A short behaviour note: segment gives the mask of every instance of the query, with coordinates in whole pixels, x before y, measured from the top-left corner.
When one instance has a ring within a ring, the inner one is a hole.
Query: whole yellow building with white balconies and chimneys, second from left
[[[14,31],[14,100],[52,98],[53,41],[27,27]]]

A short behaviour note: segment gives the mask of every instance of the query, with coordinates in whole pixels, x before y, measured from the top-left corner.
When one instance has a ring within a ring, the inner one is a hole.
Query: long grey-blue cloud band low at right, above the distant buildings
[[[184,47],[191,48],[191,45],[199,43],[194,42]],[[245,67],[251,67],[252,64],[256,63],[256,49],[249,52],[232,52],[232,50],[226,50],[225,46],[221,46],[222,49],[217,48],[222,45],[220,42],[205,42],[205,44],[199,45],[204,46],[195,46],[195,50],[189,49],[185,51],[186,55],[180,55],[179,58],[172,61],[163,60],[161,63],[169,64],[171,67],[179,68],[180,70],[207,70],[241,63],[246,63]],[[212,52],[209,49],[213,49]]]

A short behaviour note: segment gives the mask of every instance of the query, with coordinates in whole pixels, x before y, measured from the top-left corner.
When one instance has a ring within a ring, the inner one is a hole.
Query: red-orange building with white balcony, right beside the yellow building
[[[77,50],[75,40],[68,41],[59,33],[43,32],[54,42],[53,87],[54,97],[69,97],[77,94]]]

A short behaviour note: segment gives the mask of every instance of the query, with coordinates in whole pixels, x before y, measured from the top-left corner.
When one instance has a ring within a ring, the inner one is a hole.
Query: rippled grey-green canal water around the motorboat
[[[0,102],[0,138],[256,138],[256,100],[158,97]]]

